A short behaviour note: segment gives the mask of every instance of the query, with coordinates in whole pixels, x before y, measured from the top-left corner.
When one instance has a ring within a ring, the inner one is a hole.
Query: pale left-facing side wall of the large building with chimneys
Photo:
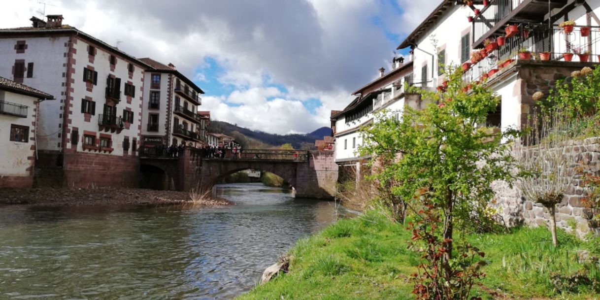
[[[17,41],[25,41],[25,53],[16,53]],[[25,78],[23,84],[53,95],[55,101],[43,101],[38,116],[38,149],[58,150],[62,133],[62,103],[64,100],[65,76],[68,51],[68,37],[23,37],[0,38],[0,76],[13,80],[13,66],[16,59],[25,60],[25,68],[29,62],[34,63],[32,78]],[[87,60],[87,59],[86,59]]]

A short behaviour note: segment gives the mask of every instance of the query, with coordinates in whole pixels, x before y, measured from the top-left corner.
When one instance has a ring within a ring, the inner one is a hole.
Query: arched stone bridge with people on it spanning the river
[[[296,197],[331,199],[338,166],[332,151],[244,150],[225,158],[205,158],[203,152],[186,148],[177,158],[140,157],[140,187],[164,190],[210,190],[226,176],[247,169],[274,173],[288,182]]]

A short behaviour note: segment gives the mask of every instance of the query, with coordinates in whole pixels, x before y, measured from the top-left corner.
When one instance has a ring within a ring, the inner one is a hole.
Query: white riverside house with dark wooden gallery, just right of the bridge
[[[377,79],[353,92],[356,98],[344,110],[332,112],[336,163],[344,166],[367,158],[358,154],[362,145],[360,130],[373,122],[374,112],[386,109],[399,115],[403,110],[404,88],[412,84],[413,62],[394,59],[392,65],[394,69],[389,73],[381,68]]]

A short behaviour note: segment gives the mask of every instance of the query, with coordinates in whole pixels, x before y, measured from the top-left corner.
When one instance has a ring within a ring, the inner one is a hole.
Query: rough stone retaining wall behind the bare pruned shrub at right
[[[600,173],[600,137],[592,137],[584,140],[574,140],[572,145],[565,146],[563,151],[571,152],[574,160],[571,172],[575,172],[577,166],[587,166],[591,172]],[[550,214],[544,206],[524,199],[518,188],[509,188],[506,182],[494,182],[494,190],[497,191],[497,206],[502,208],[503,220],[509,226],[520,223],[529,226],[547,226]],[[556,206],[557,227],[585,236],[588,233],[600,234],[598,224],[590,221],[590,209],[585,208],[582,200],[586,197],[586,188],[581,187],[581,178],[577,176],[566,192],[561,203]]]

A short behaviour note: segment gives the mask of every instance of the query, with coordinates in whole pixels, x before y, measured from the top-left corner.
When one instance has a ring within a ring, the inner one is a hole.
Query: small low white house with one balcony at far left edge
[[[0,77],[0,188],[32,187],[35,121],[40,101],[52,95]]]

